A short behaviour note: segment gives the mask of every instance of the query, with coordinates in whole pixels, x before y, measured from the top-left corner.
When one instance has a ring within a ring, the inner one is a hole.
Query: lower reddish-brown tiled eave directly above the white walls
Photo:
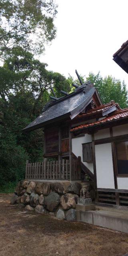
[[[80,126],[77,126],[71,129],[71,132],[86,129],[86,128],[98,127],[98,126],[101,126],[102,124],[107,124],[108,122],[114,122],[116,120],[122,120],[124,118],[128,118],[128,108],[116,110],[114,114],[112,114],[111,116],[107,116],[102,120],[99,120],[90,124],[82,124]]]

